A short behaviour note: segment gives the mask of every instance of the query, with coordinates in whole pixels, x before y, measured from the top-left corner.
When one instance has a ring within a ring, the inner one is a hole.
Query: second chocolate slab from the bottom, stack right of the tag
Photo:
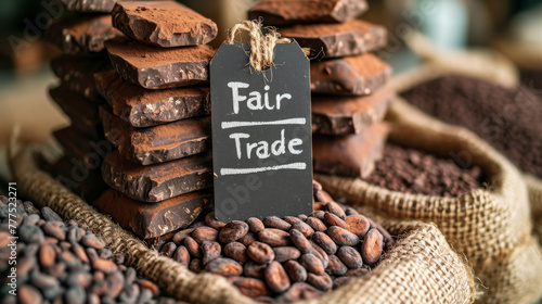
[[[361,134],[384,118],[391,97],[391,92],[386,89],[365,97],[313,94],[312,131],[323,135]]]

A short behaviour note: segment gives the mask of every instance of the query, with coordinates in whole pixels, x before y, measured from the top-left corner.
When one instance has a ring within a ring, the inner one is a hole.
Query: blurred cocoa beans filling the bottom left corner
[[[85,225],[64,223],[48,207],[13,206],[0,197],[0,303],[177,303],[138,278]],[[16,245],[10,237],[18,237]],[[16,296],[9,293],[13,277]]]

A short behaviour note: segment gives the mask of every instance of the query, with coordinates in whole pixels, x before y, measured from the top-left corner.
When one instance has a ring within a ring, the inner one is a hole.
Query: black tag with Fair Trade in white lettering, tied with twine
[[[278,43],[255,72],[249,45],[222,43],[210,63],[215,212],[230,221],[312,212],[309,60]]]

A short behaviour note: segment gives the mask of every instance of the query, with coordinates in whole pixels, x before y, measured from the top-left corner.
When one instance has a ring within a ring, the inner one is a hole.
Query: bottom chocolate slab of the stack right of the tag
[[[360,135],[313,136],[314,172],[366,177],[382,155],[388,127],[374,124]]]

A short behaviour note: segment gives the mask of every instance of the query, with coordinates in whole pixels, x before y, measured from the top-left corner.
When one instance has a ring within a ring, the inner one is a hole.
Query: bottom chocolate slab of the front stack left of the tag
[[[211,202],[209,191],[196,191],[160,203],[145,204],[107,190],[93,202],[102,213],[137,236],[149,239],[189,226]]]

